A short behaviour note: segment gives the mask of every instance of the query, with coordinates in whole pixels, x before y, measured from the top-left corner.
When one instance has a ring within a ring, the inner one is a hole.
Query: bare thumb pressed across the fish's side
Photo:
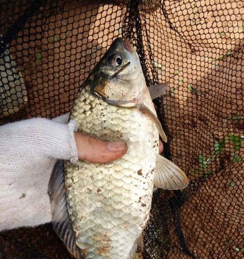
[[[122,141],[109,143],[81,132],[75,132],[75,140],[79,159],[91,163],[109,163],[127,152],[127,145]]]

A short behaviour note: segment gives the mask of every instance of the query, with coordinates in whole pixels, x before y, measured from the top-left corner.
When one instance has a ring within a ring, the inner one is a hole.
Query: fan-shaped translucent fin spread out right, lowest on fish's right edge
[[[157,155],[154,185],[162,189],[178,190],[188,185],[188,179],[181,168],[160,154]]]

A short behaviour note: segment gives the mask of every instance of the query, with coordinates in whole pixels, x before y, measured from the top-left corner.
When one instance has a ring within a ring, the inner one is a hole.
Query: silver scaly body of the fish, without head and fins
[[[69,217],[86,258],[127,259],[150,211],[159,134],[136,108],[78,94],[70,115],[79,131],[124,140],[128,152],[109,164],[64,162]]]

